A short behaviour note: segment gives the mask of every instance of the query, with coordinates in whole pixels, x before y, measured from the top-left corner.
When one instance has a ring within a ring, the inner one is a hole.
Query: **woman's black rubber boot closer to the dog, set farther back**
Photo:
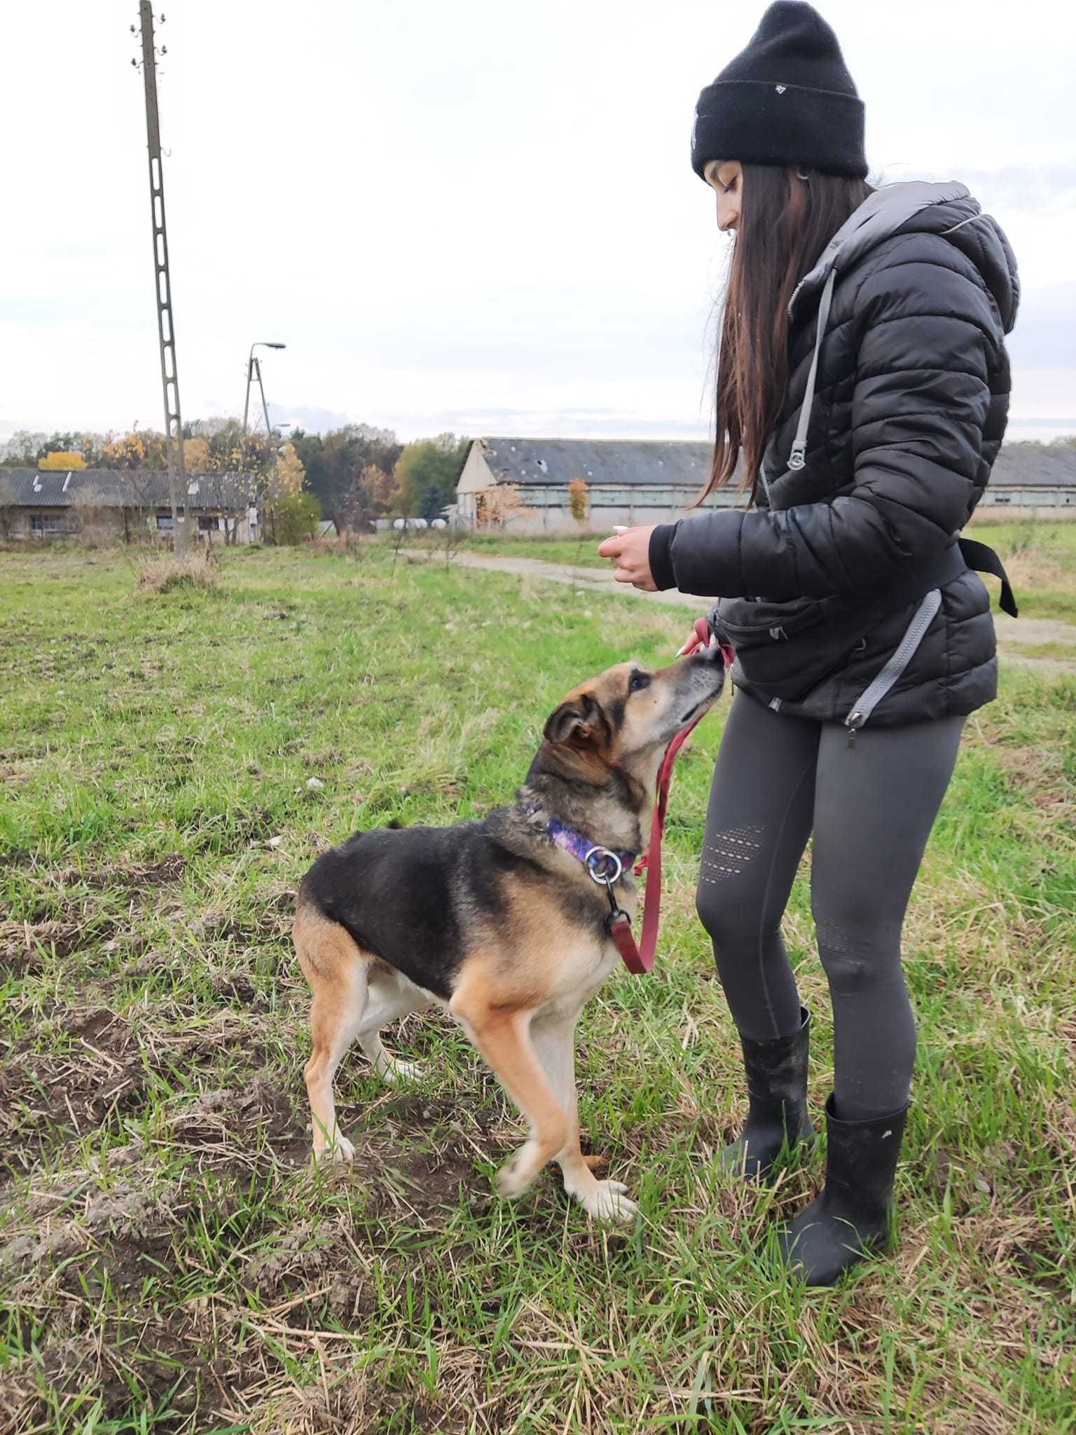
[[[747,1073],[747,1119],[739,1137],[722,1151],[720,1162],[750,1180],[768,1175],[783,1147],[791,1151],[815,1141],[806,1114],[811,1013],[806,1007],[799,1010],[802,1022],[795,1036],[770,1042],[740,1038]]]

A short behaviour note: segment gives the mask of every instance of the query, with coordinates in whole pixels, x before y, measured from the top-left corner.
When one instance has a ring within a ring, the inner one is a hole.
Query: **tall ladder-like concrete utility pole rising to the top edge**
[[[142,79],[146,88],[146,142],[149,145],[149,204],[154,220],[154,276],[156,280],[156,331],[161,343],[161,387],[165,397],[165,438],[168,443],[168,501],[172,505],[172,550],[182,555],[191,542],[187,515],[184,468],[184,420],[179,416],[179,375],[175,367],[175,326],[172,323],[172,284],[168,277],[168,232],[165,230],[165,177],[161,169],[161,125],[156,113],[156,52],[154,49],[154,7],[139,0],[142,22]],[[164,20],[164,16],[161,17]],[[133,30],[133,26],[131,27]],[[132,62],[136,63],[136,62]]]

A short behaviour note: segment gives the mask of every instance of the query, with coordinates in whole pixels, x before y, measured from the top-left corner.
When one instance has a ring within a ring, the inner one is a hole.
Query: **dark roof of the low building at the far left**
[[[194,491],[192,491],[194,489]],[[187,474],[184,502],[199,508],[245,509],[247,475]],[[0,468],[0,504],[16,508],[168,508],[168,474],[112,468]]]

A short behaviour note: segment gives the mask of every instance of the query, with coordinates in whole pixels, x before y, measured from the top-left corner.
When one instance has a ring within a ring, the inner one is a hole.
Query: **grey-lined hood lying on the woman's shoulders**
[[[1020,304],[1016,255],[1000,224],[973,199],[963,184],[925,184],[911,179],[882,185],[845,220],[818,264],[796,286],[789,314],[805,294],[819,290],[829,271],[844,271],[868,250],[894,234],[940,234],[966,254],[994,296],[1004,331],[1010,333]]]

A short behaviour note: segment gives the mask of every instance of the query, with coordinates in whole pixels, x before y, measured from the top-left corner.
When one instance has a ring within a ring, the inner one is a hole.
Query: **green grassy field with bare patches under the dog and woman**
[[[584,1129],[638,1227],[549,1175],[494,1198],[518,1121],[440,1017],[390,1033],[415,1088],[349,1059],[357,1161],[307,1165],[307,864],[505,801],[570,686],[683,626],[383,544],[164,594],[108,554],[0,554],[0,1429],[1076,1429],[1072,677],[1006,672],[968,725],[907,924],[902,1244],[861,1279],[766,1263],[818,1157],[773,1190],[714,1165],[742,1073],[692,891],[725,703],[677,768],[659,966],[581,1025]],[[821,1109],[802,875],[786,933]]]

